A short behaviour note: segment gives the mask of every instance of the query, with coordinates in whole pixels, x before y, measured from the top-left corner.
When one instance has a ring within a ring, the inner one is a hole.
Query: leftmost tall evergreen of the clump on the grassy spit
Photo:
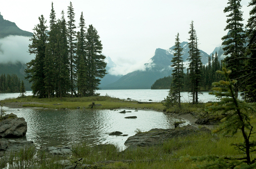
[[[26,63],[27,68],[25,69],[26,79],[29,79],[29,82],[32,82],[31,89],[34,95],[38,95],[39,97],[46,97],[45,90],[45,73],[43,71],[44,68],[44,60],[45,60],[45,52],[46,52],[46,44],[47,44],[47,26],[46,20],[43,17],[39,17],[40,23],[35,26],[34,33],[30,41],[32,44],[29,44],[28,52],[30,54],[35,54],[35,59],[32,59],[30,62]]]

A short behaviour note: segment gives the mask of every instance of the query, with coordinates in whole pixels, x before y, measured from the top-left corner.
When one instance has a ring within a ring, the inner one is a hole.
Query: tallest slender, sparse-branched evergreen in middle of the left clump
[[[71,81],[71,97],[75,92],[75,53],[76,53],[76,25],[75,25],[75,13],[73,5],[70,2],[70,6],[67,9],[67,39],[68,39],[68,56],[70,62],[70,81]]]

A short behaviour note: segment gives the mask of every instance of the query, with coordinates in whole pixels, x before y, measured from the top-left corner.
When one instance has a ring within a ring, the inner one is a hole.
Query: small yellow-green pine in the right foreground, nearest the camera
[[[213,92],[210,93],[220,98],[220,102],[208,103],[206,111],[223,111],[223,115],[225,115],[221,120],[221,125],[214,132],[223,131],[225,134],[231,133],[232,136],[237,132],[242,133],[243,142],[233,143],[235,149],[241,152],[242,157],[200,157],[199,160],[208,161],[201,168],[255,168],[256,158],[253,158],[252,152],[256,151],[256,142],[252,140],[255,132],[250,123],[250,118],[256,110],[253,106],[236,98],[234,84],[237,81],[231,81],[229,78],[231,71],[228,71],[225,65],[222,70],[218,73],[223,74],[226,80],[214,82]]]

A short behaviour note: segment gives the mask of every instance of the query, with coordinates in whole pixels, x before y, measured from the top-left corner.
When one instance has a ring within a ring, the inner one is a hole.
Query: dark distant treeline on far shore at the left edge
[[[18,93],[21,87],[21,80],[16,74],[1,74],[0,93]]]

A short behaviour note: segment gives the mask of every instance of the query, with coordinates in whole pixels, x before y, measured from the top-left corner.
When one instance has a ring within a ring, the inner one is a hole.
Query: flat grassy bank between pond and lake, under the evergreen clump
[[[23,107],[43,107],[52,109],[76,109],[77,107],[90,109],[92,102],[96,105],[94,109],[115,109],[115,108],[152,108],[157,111],[164,109],[163,105],[159,102],[138,103],[137,101],[125,101],[119,98],[108,96],[92,96],[92,97],[74,97],[74,98],[36,98],[26,96],[24,98],[13,98],[0,101],[0,103],[16,103],[21,104]],[[25,104],[24,104],[25,103]],[[99,106],[100,105],[100,106]]]

